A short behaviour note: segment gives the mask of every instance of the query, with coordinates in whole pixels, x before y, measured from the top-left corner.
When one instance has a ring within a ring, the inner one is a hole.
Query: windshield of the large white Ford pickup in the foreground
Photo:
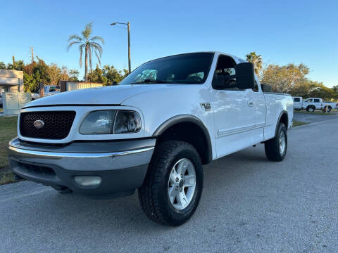
[[[137,67],[120,85],[125,84],[203,84],[214,53],[186,53],[168,56]]]

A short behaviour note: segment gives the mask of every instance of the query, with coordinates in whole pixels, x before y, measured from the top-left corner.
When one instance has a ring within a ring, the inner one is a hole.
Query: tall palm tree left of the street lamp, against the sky
[[[84,27],[84,30],[81,32],[81,36],[77,34],[70,35],[68,42],[70,42],[67,46],[67,51],[70,46],[74,44],[78,44],[80,50],[80,67],[82,67],[82,53],[84,49],[84,79],[88,82],[88,58],[89,58],[89,66],[90,70],[92,70],[92,54],[95,53],[99,64],[101,65],[101,55],[102,55],[102,46],[99,44],[101,41],[104,44],[104,39],[99,36],[92,36],[93,30],[93,22],[90,22]]]

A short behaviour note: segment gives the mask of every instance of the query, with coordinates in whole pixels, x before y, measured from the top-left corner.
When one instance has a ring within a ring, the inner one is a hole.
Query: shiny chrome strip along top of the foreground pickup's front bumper
[[[52,158],[64,158],[64,157],[73,157],[73,158],[99,158],[99,157],[119,157],[123,155],[133,155],[137,153],[143,153],[146,151],[154,150],[155,147],[150,148],[139,148],[137,150],[126,150],[113,153],[58,153],[58,152],[44,152],[36,150],[25,150],[21,148],[14,148],[11,145],[8,147],[8,150],[11,150],[15,153],[21,155],[34,155],[37,157],[52,157]]]

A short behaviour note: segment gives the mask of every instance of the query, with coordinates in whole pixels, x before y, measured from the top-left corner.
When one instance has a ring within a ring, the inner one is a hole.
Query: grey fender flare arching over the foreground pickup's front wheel
[[[157,137],[163,134],[166,130],[168,130],[171,126],[174,126],[175,124],[183,123],[183,122],[189,122],[196,124],[199,126],[199,128],[203,131],[204,136],[206,138],[206,144],[208,145],[208,163],[213,160],[213,146],[211,145],[211,138],[208,129],[206,128],[206,125],[199,119],[198,117],[194,115],[177,115],[174,117],[171,117],[170,119],[167,119],[165,122],[163,122],[156,131],[154,132],[153,136]]]

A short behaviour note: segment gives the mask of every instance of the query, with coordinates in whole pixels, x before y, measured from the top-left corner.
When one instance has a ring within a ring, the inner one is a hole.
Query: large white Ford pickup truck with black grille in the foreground
[[[251,63],[186,53],[144,63],[117,86],[25,105],[8,157],[15,174],[61,193],[138,189],[150,219],[178,226],[199,204],[202,165],[256,143],[282,161],[292,117],[292,97],[263,92]]]

